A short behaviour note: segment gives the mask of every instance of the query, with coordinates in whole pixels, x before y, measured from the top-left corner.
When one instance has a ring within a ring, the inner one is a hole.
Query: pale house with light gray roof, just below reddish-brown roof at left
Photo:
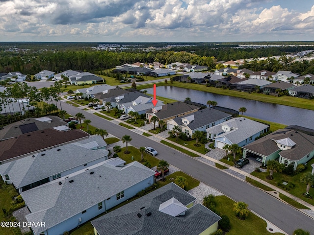
[[[65,144],[0,165],[0,175],[19,193],[68,176],[108,159],[101,136]]]

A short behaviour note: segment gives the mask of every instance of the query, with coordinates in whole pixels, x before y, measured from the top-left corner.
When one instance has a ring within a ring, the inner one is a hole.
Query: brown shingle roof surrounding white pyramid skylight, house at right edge
[[[276,151],[280,151],[276,141],[289,138],[295,143],[291,149],[283,150],[280,155],[290,160],[300,160],[314,150],[314,136],[302,132],[288,129],[279,129],[273,133],[262,137],[243,148],[268,156]]]

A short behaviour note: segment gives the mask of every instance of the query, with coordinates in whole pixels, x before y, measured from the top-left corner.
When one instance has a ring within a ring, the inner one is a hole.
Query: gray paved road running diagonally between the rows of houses
[[[291,206],[270,196],[262,190],[255,188],[226,172],[199,162],[142,135],[138,135],[129,129],[112,124],[104,118],[87,113],[86,111],[67,103],[62,103],[62,107],[72,115],[82,112],[85,118],[92,121],[91,124],[93,126],[106,129],[110,134],[118,138],[121,138],[124,135],[130,135],[132,138],[131,144],[135,147],[152,146],[156,148],[158,150],[157,158],[166,160],[169,164],[178,167],[185,173],[209,186],[220,190],[235,201],[243,201],[247,203],[251,210],[255,211],[289,235],[298,228],[314,233],[314,220],[312,218],[295,210]]]

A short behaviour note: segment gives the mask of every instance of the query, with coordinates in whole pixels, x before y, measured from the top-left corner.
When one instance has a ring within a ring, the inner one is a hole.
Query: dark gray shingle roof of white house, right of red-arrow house
[[[200,128],[202,126],[205,126],[207,124],[210,124],[223,118],[231,117],[230,114],[226,114],[219,110],[206,108],[196,111],[192,114],[187,114],[178,118],[174,118],[173,120],[177,122],[179,125],[182,125],[183,124],[182,119],[185,117],[189,117],[191,115],[194,115],[194,120],[190,122],[190,124],[186,125],[191,130],[195,130],[197,128]]]

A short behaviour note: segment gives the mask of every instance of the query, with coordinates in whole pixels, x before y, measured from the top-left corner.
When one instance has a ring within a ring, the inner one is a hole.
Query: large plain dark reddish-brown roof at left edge
[[[64,132],[52,128],[26,133],[0,141],[0,162],[87,136],[89,134],[81,130]]]

